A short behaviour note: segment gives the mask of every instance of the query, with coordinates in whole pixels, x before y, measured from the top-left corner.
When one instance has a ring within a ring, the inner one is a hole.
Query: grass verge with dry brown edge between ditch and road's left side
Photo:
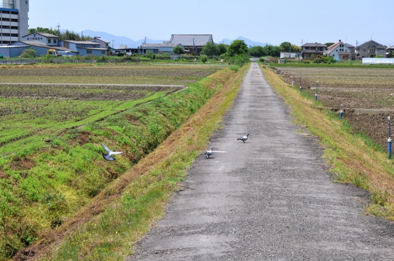
[[[67,233],[62,242],[45,245],[41,258],[124,260],[130,255],[133,242],[163,215],[168,198],[179,188],[178,182],[206,148],[212,131],[220,126],[221,117],[232,104],[247,68],[245,66],[221,87],[154,152],[100,193],[77,214],[76,221],[60,227],[57,234],[71,230],[74,223],[81,223],[78,229]],[[212,82],[200,84],[209,88]],[[97,208],[103,212],[92,217]],[[81,219],[89,222],[80,222]]]

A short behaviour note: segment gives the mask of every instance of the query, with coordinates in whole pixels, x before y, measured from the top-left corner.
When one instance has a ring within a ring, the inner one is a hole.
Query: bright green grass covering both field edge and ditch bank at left
[[[203,79],[204,85],[194,83],[171,95],[148,92],[139,100],[5,98],[15,108],[26,104],[37,110],[12,110],[3,116],[9,127],[2,127],[0,136],[0,256],[10,258],[40,239],[41,232],[62,227],[98,195],[111,193],[103,191],[179,128],[232,74],[226,69]],[[100,142],[124,153],[106,162]]]

